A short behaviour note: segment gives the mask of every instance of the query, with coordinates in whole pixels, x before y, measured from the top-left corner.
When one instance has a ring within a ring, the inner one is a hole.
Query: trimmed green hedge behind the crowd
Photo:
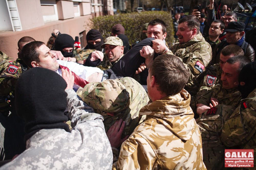
[[[115,24],[122,24],[125,29],[125,35],[129,38],[130,44],[140,40],[143,24],[150,22],[153,19],[161,19],[167,25],[166,42],[168,45],[174,40],[173,21],[169,12],[165,11],[145,11],[141,13],[133,12],[130,14],[118,14],[94,17],[87,26],[90,29],[99,30],[105,39],[111,36],[111,28]]]

